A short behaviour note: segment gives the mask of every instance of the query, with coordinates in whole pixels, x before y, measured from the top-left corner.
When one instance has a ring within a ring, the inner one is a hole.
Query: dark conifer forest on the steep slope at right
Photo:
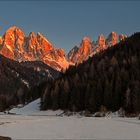
[[[41,109],[140,112],[140,33],[71,66],[41,93]]]

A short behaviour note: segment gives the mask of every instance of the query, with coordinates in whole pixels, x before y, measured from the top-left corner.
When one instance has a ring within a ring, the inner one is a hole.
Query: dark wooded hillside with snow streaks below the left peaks
[[[0,111],[40,97],[41,85],[59,72],[43,62],[16,62],[0,55]]]

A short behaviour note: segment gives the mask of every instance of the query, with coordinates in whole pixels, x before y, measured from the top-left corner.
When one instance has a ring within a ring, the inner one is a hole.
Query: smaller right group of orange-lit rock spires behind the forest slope
[[[79,47],[76,46],[70,50],[68,60],[72,63],[82,63],[84,60],[87,60],[89,56],[114,46],[118,41],[124,40],[125,38],[126,36],[123,34],[117,37],[115,32],[111,32],[107,39],[101,34],[98,36],[97,41],[91,43],[88,37],[84,37]]]

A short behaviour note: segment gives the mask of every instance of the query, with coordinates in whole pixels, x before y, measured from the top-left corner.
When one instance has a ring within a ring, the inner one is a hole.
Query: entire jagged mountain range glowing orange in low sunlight
[[[87,60],[90,56],[108,47],[115,45],[126,38],[121,34],[117,37],[111,32],[107,39],[103,34],[98,40],[90,41],[89,37],[83,37],[79,47],[75,46],[68,55],[62,48],[56,49],[41,33],[30,32],[25,36],[24,32],[16,26],[12,26],[0,37],[0,54],[15,61],[42,61],[57,71],[65,70],[69,65],[75,65]]]

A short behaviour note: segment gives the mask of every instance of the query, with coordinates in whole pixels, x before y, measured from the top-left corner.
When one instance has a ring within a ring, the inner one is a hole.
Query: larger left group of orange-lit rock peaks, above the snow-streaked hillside
[[[42,61],[58,71],[69,65],[65,52],[55,49],[39,32],[26,37],[20,28],[10,27],[0,38],[0,46],[0,54],[16,61]]]

